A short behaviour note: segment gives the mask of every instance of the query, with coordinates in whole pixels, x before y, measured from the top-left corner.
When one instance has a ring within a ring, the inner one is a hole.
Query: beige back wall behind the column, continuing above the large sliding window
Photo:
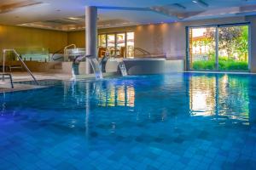
[[[214,20],[199,20],[176,22],[170,24],[128,26],[100,29],[98,33],[121,31],[135,32],[135,47],[143,48],[151,54],[166,54],[169,59],[185,59],[186,56],[186,26],[210,26],[246,22],[245,17],[223,18]],[[76,43],[84,47],[84,31],[67,33],[68,43]]]

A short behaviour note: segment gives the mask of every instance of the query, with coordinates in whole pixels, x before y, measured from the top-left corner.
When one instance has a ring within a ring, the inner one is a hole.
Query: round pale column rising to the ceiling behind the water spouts
[[[97,8],[85,7],[85,49],[86,55],[97,57]],[[92,73],[90,63],[86,62],[86,74]]]

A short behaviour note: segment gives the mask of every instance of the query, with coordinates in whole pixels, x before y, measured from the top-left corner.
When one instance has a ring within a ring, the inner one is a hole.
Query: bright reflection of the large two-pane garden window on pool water
[[[215,116],[215,120],[249,124],[248,82],[229,75],[191,77],[191,116]],[[219,122],[226,124],[226,122]]]

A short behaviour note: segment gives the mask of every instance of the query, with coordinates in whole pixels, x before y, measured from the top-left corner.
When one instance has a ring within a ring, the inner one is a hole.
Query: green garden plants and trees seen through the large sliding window
[[[207,46],[207,60],[193,61],[194,70],[215,70],[215,31],[207,28],[204,37],[192,43]],[[227,26],[218,28],[218,68],[223,71],[248,69],[248,27]]]

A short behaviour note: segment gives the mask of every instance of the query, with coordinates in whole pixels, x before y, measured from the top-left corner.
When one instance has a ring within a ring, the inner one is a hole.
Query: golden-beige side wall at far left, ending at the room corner
[[[66,45],[65,31],[0,25],[1,51],[3,48],[49,48],[49,52],[54,53]]]

